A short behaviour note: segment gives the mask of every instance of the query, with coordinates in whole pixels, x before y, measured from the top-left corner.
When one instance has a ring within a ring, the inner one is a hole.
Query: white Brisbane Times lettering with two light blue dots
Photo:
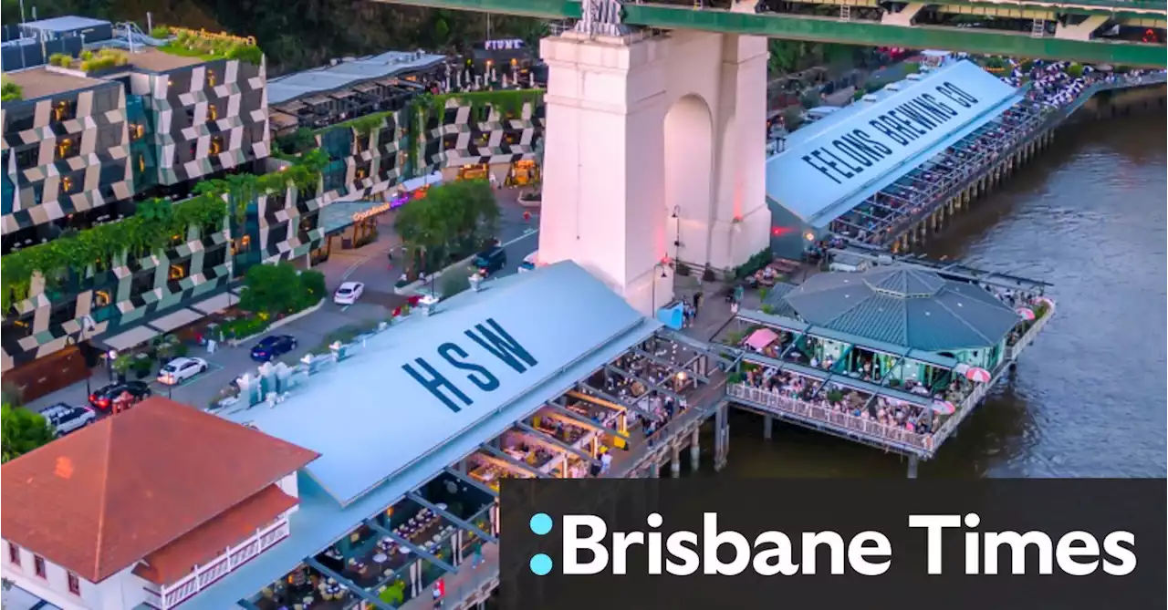
[[[595,514],[565,514],[556,524],[541,512],[528,525],[536,537],[558,534],[562,540],[558,559],[548,553],[530,556],[528,568],[536,576],[881,576],[892,566],[894,555],[889,535],[874,530],[847,537],[834,531],[788,534],[772,530],[748,537],[721,527],[716,512],[702,514],[701,531],[670,531],[655,512],[638,531],[610,531]],[[1082,530],[1059,534],[987,531],[973,512],[911,514],[904,526],[897,533],[919,537],[926,551],[910,563],[918,563],[915,569],[929,575],[1126,576],[1138,563],[1135,534],[1129,531],[1101,537]],[[943,561],[944,556],[950,561]]]

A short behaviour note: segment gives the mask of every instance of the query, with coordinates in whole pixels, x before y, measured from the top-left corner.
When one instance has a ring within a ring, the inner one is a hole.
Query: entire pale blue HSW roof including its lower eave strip
[[[571,261],[491,280],[482,292],[464,292],[440,307],[370,337],[356,356],[314,374],[274,408],[225,415],[318,448],[325,462],[301,471],[291,535],[185,608],[234,608],[661,328]],[[480,325],[498,325],[509,337],[495,332],[501,341],[479,344],[471,335],[488,337]],[[439,348],[451,360],[438,356]],[[535,364],[528,366],[516,348]],[[457,402],[454,412],[403,371],[406,364],[425,370],[419,359],[471,404]],[[475,387],[473,379],[487,385],[486,377],[467,376],[453,362],[482,366],[499,386]]]

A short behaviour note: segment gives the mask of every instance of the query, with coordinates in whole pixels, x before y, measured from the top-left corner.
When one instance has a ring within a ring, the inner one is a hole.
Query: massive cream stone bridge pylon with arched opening
[[[673,261],[732,269],[769,245],[766,38],[597,31],[541,43],[540,260],[572,259],[649,313]]]

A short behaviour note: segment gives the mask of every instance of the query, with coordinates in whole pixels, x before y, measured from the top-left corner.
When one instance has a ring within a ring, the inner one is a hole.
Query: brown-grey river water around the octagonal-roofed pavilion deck
[[[1168,476],[1168,115],[1064,128],[929,245],[1054,283],[1058,304],[1008,383],[920,464],[926,477]],[[731,418],[737,477],[905,476],[904,460]]]

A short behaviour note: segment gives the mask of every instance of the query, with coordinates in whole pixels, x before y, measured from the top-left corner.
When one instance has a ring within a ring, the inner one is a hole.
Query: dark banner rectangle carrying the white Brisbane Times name
[[[1161,479],[506,479],[508,610],[1168,609]]]

